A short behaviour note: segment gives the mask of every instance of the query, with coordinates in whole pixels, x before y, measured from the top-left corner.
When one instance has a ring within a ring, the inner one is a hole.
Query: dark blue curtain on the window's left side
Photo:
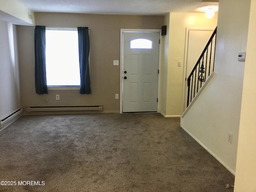
[[[45,26],[35,27],[34,43],[36,93],[48,94],[45,64]]]

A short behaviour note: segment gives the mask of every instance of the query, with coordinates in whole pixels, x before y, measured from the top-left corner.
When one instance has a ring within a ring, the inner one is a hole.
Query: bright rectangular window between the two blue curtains
[[[77,29],[46,28],[47,86],[80,86]]]

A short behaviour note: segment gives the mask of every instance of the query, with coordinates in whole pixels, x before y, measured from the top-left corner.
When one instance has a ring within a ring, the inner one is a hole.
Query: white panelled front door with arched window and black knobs
[[[160,32],[123,32],[122,112],[157,112]]]

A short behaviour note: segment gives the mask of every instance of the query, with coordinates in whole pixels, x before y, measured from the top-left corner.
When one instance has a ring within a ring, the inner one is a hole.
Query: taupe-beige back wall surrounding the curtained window
[[[94,14],[35,13],[36,25],[90,28],[90,73],[92,94],[79,90],[48,90],[38,95],[34,84],[34,29],[18,26],[22,106],[103,105],[104,112],[120,112],[120,29],[161,29],[164,16],[118,16]],[[60,100],[55,95],[60,94]],[[48,102],[42,101],[48,99]]]

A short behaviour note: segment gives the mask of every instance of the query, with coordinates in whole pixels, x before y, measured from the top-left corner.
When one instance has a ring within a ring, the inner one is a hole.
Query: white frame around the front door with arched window
[[[161,62],[162,62],[162,36],[161,29],[121,29],[120,30],[120,113],[123,113],[123,32],[159,32],[160,44],[158,53],[158,88],[157,88],[157,112],[160,112],[160,80],[161,80]]]

